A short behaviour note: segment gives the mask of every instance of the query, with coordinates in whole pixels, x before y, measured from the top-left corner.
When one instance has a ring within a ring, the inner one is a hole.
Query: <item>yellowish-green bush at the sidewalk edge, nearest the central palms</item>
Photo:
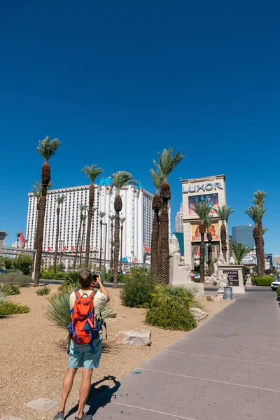
[[[167,330],[189,331],[197,323],[190,307],[199,306],[194,293],[181,287],[156,286],[151,293],[151,307],[146,314],[146,322]]]

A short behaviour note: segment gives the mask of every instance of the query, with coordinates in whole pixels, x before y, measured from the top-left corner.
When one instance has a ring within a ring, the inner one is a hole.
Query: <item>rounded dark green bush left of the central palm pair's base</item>
[[[128,307],[148,307],[151,302],[153,281],[151,275],[134,272],[123,277],[125,287],[120,292],[120,299]]]

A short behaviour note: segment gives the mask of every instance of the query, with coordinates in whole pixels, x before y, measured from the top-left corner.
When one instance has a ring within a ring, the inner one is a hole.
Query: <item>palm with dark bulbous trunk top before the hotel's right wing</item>
[[[120,190],[128,183],[135,182],[132,174],[125,171],[118,171],[113,174],[113,186],[116,188],[116,197],[114,201],[115,216],[115,232],[114,232],[114,258],[113,258],[113,288],[118,288],[118,255],[120,253],[120,211],[123,209],[122,197]]]

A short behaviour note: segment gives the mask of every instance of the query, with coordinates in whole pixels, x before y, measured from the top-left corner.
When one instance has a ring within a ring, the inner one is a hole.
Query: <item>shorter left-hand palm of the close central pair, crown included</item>
[[[159,281],[159,239],[160,239],[160,209],[162,208],[162,199],[159,195],[159,190],[162,186],[162,173],[160,170],[155,172],[151,169],[150,174],[153,179],[153,185],[155,186],[155,195],[153,196],[153,230],[152,230],[152,241],[151,241],[151,272],[154,283]]]

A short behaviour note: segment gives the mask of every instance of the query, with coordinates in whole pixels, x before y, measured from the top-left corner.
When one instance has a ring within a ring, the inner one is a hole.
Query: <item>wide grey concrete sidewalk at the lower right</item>
[[[251,289],[138,370],[89,402],[94,419],[278,420],[276,293]]]

